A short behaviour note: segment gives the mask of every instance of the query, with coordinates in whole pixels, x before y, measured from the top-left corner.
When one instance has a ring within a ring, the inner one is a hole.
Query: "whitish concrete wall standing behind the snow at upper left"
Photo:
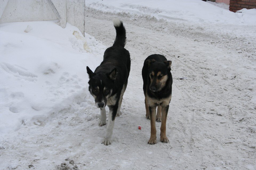
[[[66,22],[84,35],[85,0],[0,0],[0,23],[56,20]]]

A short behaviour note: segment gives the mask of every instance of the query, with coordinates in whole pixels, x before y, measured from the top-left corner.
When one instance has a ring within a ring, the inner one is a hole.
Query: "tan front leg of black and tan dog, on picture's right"
[[[162,123],[160,127],[160,141],[161,142],[169,142],[168,138],[166,137],[166,119],[167,119],[167,113],[169,110],[169,105],[162,106]]]

